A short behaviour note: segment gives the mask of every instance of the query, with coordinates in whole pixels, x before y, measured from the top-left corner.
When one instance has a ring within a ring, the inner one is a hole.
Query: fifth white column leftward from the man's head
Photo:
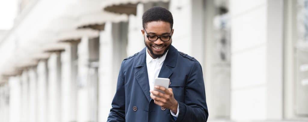
[[[60,52],[48,59],[48,120],[61,121],[61,61]]]

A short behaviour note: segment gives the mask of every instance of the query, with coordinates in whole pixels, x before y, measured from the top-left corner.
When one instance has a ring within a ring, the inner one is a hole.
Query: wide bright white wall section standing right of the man
[[[266,119],[266,11],[265,0],[230,1],[232,120]]]

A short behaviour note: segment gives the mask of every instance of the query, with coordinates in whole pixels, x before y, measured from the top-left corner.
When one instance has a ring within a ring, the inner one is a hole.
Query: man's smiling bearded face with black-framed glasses
[[[148,22],[144,30],[141,30],[144,36],[144,44],[147,46],[149,54],[153,59],[159,58],[163,56],[167,50],[169,49],[172,38],[169,41],[162,41],[158,38],[156,41],[149,41],[148,35],[155,35],[155,36],[170,36],[173,34],[173,29],[171,31],[170,23],[164,21],[153,21]]]

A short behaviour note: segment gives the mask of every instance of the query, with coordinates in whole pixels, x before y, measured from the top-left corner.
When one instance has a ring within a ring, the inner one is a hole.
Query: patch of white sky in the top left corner
[[[0,0],[0,30],[10,30],[17,14],[17,0]]]

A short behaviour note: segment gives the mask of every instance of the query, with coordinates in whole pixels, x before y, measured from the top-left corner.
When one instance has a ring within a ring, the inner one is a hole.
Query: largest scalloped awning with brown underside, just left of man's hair
[[[137,14],[138,3],[169,2],[170,0],[106,0],[102,3],[103,10],[119,14]]]

